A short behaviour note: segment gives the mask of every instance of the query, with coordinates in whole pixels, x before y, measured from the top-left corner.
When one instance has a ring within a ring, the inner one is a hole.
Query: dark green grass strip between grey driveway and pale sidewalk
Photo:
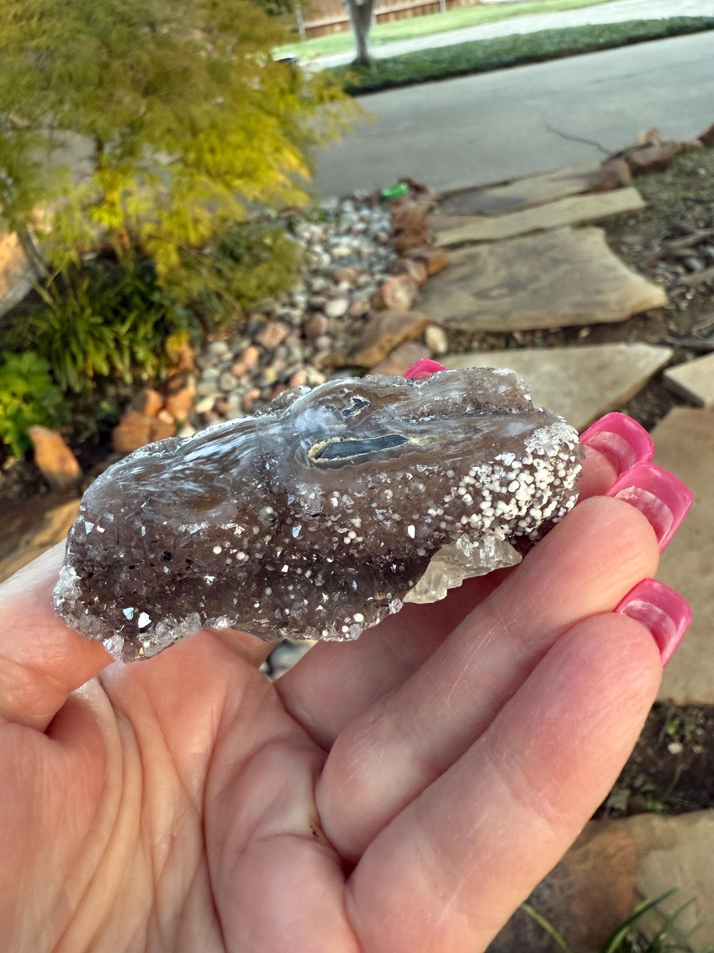
[[[420,50],[375,60],[371,68],[335,67],[330,72],[343,80],[347,92],[359,95],[703,30],[714,30],[714,16],[679,16],[668,20],[564,27]]]

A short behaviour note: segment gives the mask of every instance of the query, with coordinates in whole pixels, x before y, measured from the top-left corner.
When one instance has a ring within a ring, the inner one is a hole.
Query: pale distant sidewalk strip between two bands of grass
[[[462,30],[447,30],[430,36],[418,36],[412,40],[398,40],[372,47],[375,57],[399,56],[434,47],[450,47],[471,40],[487,40],[493,36],[510,36],[513,33],[533,33],[536,30],[554,30],[562,27],[579,27],[587,23],[623,23],[625,20],[664,20],[671,16],[714,16],[714,0],[613,0],[597,7],[583,10],[560,10],[553,13],[536,13],[514,16],[497,23],[480,27],[465,27]],[[350,63],[354,53],[334,53],[320,56],[311,62],[320,67],[341,66]]]

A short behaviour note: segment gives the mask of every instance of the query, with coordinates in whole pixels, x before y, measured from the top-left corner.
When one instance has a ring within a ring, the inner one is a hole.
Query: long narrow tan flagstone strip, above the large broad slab
[[[439,248],[466,242],[500,241],[531,232],[595,222],[609,215],[639,212],[645,199],[634,188],[592,195],[571,195],[546,205],[506,215],[465,215],[458,228],[437,232],[434,244]]]

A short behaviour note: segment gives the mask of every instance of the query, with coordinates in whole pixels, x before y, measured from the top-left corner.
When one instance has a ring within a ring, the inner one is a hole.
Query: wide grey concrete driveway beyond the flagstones
[[[365,96],[373,121],[320,154],[316,188],[444,191],[589,162],[649,126],[693,138],[714,122],[713,63],[711,31]]]

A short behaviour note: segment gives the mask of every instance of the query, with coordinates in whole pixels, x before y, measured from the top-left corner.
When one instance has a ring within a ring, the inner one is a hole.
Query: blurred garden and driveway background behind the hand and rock
[[[0,579],[290,387],[432,357],[634,416],[694,623],[491,948],[714,949],[714,0],[3,0],[0,53]]]

